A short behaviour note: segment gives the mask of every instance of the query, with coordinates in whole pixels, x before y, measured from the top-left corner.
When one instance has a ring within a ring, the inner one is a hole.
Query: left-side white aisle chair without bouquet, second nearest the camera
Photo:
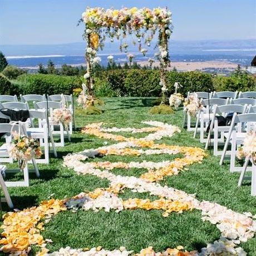
[[[49,154],[50,154],[48,135],[50,137],[53,154],[55,155],[55,157],[57,157],[57,151],[56,151],[55,142],[53,140],[51,129],[48,131],[46,110],[29,110],[29,116],[34,120],[35,119],[38,120],[38,126],[27,128],[27,134],[28,136],[34,139],[39,139],[40,146],[43,147],[45,151],[44,152],[45,158],[41,157],[40,159],[36,159],[36,163],[48,164]]]

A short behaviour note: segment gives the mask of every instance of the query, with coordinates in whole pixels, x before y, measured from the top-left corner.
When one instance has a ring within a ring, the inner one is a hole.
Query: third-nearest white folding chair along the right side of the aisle
[[[218,150],[218,145],[224,143],[224,132],[228,132],[230,129],[230,126],[219,126],[218,125],[218,116],[227,117],[229,113],[237,113],[237,114],[244,114],[245,111],[247,111],[247,105],[222,105],[222,106],[214,106],[213,109],[213,117],[211,118],[210,123],[210,129],[207,137],[207,141],[205,144],[205,149],[208,149],[209,144],[213,141],[213,154],[221,155],[222,150]],[[211,132],[214,133],[213,140],[210,139]],[[219,138],[220,135],[220,138]],[[230,151],[227,151],[227,154],[230,153]]]

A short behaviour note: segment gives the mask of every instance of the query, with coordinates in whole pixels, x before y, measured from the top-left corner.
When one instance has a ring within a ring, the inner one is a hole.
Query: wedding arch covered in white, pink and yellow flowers
[[[160,85],[162,90],[162,102],[166,100],[166,71],[170,66],[168,51],[168,41],[172,33],[171,12],[168,8],[122,8],[122,9],[104,9],[90,8],[82,13],[81,21],[85,23],[85,32],[83,34],[86,43],[86,62],[87,72],[83,76],[83,96],[80,101],[83,106],[93,105],[93,65],[101,61],[97,57],[97,51],[104,47],[106,38],[113,42],[114,38],[121,40],[120,50],[127,52],[129,47],[126,41],[128,35],[135,35],[134,45],[139,46],[139,51],[145,56],[147,49],[142,48],[142,43],[150,46],[154,35],[158,36],[156,47],[159,52],[155,53],[155,58],[160,62]],[[132,61],[134,55],[128,54],[129,61]],[[109,56],[109,62],[112,62],[113,56]],[[154,60],[149,58],[152,65]]]

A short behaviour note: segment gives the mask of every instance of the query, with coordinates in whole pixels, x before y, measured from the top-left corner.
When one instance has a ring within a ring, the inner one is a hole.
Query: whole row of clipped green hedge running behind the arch
[[[159,70],[107,70],[95,77],[95,94],[98,97],[134,96],[156,97],[160,95],[161,86]],[[229,77],[214,76],[200,71],[168,73],[168,95],[174,93],[174,83],[183,87],[179,92],[186,95],[188,91],[255,91],[256,78],[244,72],[234,72]],[[76,76],[58,76],[43,74],[24,74],[7,86],[10,93],[48,93],[70,94],[73,88],[81,88],[81,81]],[[4,88],[2,86],[2,88]],[[4,89],[3,92],[6,90]]]

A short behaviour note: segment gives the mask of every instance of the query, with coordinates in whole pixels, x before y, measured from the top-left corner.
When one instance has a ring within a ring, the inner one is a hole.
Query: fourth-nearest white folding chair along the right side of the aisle
[[[206,131],[208,122],[213,117],[213,106],[214,105],[227,105],[228,99],[205,99],[201,101],[201,104],[204,106],[202,110],[199,111],[196,117],[196,124],[195,124],[195,131],[194,131],[194,138],[196,137],[196,133],[198,130],[200,131],[200,142],[206,142],[204,139],[204,132]],[[200,127],[199,127],[200,122]]]

